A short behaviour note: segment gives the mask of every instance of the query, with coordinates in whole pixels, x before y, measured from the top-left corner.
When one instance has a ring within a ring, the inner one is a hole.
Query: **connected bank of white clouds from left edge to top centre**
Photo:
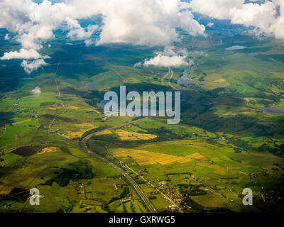
[[[205,27],[195,20],[189,6],[181,0],[65,0],[55,4],[1,0],[0,28],[6,28],[22,46],[20,52],[7,52],[1,59],[40,59],[43,41],[54,38],[53,31],[59,28],[86,45],[169,45],[179,40],[177,28],[204,35]],[[102,16],[102,24],[82,28],[78,20],[93,16]],[[92,34],[97,31],[99,38],[94,40]]]

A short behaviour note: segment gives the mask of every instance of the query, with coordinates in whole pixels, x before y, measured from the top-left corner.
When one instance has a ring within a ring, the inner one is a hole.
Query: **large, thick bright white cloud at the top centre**
[[[190,35],[204,35],[204,26],[195,21],[192,13],[181,11],[187,4],[180,0],[109,0],[94,5],[103,15],[97,44],[169,45],[179,38],[176,28]]]

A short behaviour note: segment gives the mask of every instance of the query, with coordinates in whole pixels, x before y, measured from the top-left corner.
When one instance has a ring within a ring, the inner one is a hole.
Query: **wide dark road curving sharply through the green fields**
[[[137,121],[141,121],[142,119],[145,119],[145,118],[140,118],[136,121],[131,121],[129,123],[124,123],[124,124],[121,124],[119,126],[114,126],[112,128],[107,128],[107,129],[103,129],[102,131],[105,131],[105,130],[111,130],[111,129],[115,129],[115,128],[120,128],[122,126],[127,126],[131,123],[135,123]],[[121,173],[121,175],[123,175],[129,182],[130,184],[133,186],[133,188],[136,190],[137,194],[139,196],[141,196],[141,199],[144,201],[144,203],[146,204],[146,206],[148,207],[148,210],[151,211],[152,213],[156,212],[155,210],[155,207],[153,206],[153,204],[151,204],[151,201],[149,201],[148,197],[143,193],[143,191],[141,190],[141,188],[138,186],[138,184],[124,171],[122,170],[120,167],[118,167],[117,165],[114,164],[114,162],[111,162],[111,160],[107,160],[106,158],[102,157],[102,155],[99,155],[97,153],[94,153],[92,150],[89,150],[88,146],[87,146],[87,143],[88,143],[88,140],[90,138],[92,138],[92,136],[96,135],[97,133],[99,132],[102,132],[102,131],[97,131],[95,133],[92,133],[90,135],[87,135],[86,137],[82,138],[81,140],[81,147],[84,149],[84,151],[86,153],[89,153],[91,154],[93,157],[96,157],[97,159],[99,160],[102,160],[103,162],[107,163],[108,165],[110,165],[111,167],[114,167],[114,169],[116,169],[117,171],[119,171]]]

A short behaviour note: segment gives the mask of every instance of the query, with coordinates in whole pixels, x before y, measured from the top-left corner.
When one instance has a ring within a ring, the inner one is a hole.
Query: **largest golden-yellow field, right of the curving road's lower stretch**
[[[120,157],[132,157],[140,166],[143,165],[152,165],[159,163],[160,165],[168,165],[173,162],[191,162],[195,159],[202,159],[204,158],[203,155],[200,155],[199,153],[194,153],[191,155],[187,155],[185,157],[177,156],[177,155],[166,155],[162,153],[153,153],[148,152],[146,150],[134,150],[134,149],[124,149],[124,148],[118,148],[112,150],[114,155],[118,158]]]

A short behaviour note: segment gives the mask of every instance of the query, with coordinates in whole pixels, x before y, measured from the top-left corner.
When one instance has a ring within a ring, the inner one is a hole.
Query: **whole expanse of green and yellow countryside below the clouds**
[[[84,34],[94,26],[79,22]],[[283,212],[283,40],[214,23],[196,37],[177,28],[170,48],[135,38],[86,45],[58,28],[39,43],[46,64],[36,70],[21,66],[30,58],[1,59],[0,212]],[[21,50],[6,34],[0,57]],[[167,51],[188,64],[146,64]],[[178,83],[185,72],[190,83]],[[104,94],[123,85],[179,91],[180,123],[105,116]],[[29,203],[33,188],[40,206]],[[242,203],[246,188],[253,206]]]

